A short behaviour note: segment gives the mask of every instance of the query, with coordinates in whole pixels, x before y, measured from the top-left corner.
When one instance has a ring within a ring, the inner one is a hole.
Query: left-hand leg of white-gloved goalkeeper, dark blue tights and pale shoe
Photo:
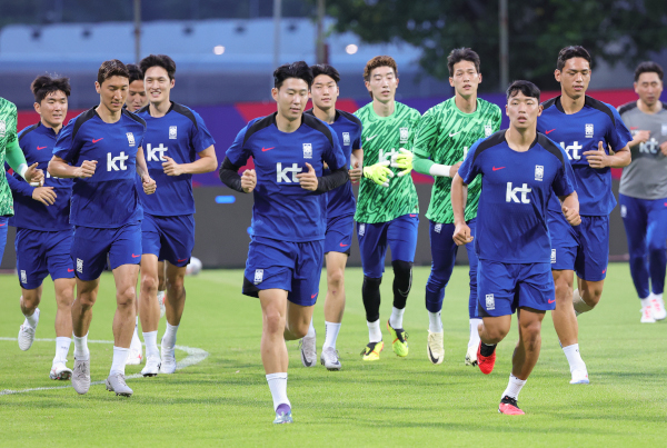
[[[458,246],[451,239],[454,225],[429,221],[431,271],[426,282],[426,309],[428,311],[428,339],[426,350],[429,361],[440,364],[445,359],[442,331],[442,300],[449,282]]]

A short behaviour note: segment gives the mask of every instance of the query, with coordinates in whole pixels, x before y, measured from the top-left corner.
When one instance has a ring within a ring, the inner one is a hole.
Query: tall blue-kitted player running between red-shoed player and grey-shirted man
[[[590,73],[590,54],[584,47],[560,50],[555,71],[560,96],[546,101],[537,119],[537,130],[565,149],[579,195],[580,226],[565,221],[555,196],[548,213],[556,283],[551,317],[573,385],[589,382],[579,354],[576,315],[590,311],[603,295],[609,261],[609,213],[616,206],[611,168],[630,163],[628,142],[633,139],[614,107],[586,96]],[[575,272],[578,288],[573,292]]]

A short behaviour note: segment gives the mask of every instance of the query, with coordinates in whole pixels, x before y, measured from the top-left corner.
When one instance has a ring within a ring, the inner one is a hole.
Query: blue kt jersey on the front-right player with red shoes
[[[563,148],[538,133],[530,149],[509,148],[506,130],[470,147],[458,173],[465,183],[481,175],[475,251],[506,263],[550,262],[547,201],[575,191]]]

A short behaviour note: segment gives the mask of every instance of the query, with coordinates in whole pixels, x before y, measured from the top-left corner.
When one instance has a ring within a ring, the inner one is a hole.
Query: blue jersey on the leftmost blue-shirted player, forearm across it
[[[37,162],[37,168],[44,171],[44,187],[53,187],[56,202],[51,206],[32,199],[36,187],[31,187],[18,173],[7,173],[7,182],[14,201],[14,216],[9,218],[9,225],[31,230],[60,231],[70,230],[69,223],[70,197],[72,179],[54,178],[47,171],[57,133],[41,122],[29,126],[19,132],[19,146],[26,156],[28,166]]]

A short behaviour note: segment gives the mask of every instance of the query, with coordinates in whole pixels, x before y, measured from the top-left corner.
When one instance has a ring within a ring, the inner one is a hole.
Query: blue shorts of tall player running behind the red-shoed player
[[[587,281],[607,277],[609,263],[609,217],[583,216],[571,227],[563,213],[548,212],[551,236],[551,269],[574,270]]]

